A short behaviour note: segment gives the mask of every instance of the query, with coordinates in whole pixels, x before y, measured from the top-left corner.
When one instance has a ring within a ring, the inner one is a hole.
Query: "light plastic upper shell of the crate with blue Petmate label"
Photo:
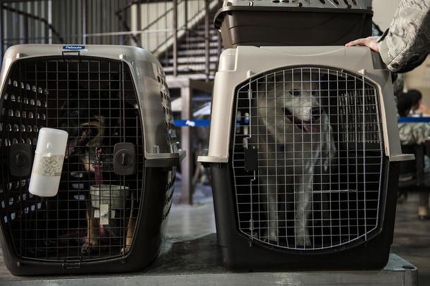
[[[110,58],[127,64],[135,83],[138,104],[142,111],[145,159],[148,160],[145,164],[150,166],[151,159],[165,159],[166,164],[179,164],[179,158],[182,158],[185,153],[177,151],[175,148],[177,142],[172,142],[172,138],[176,135],[174,134],[173,115],[168,107],[170,106],[170,98],[167,96],[168,87],[165,84],[164,71],[154,55],[144,48],[119,45],[27,44],[12,46],[8,48],[4,56],[1,86],[6,84],[8,76],[6,71],[15,61],[35,57],[53,57],[53,55]]]

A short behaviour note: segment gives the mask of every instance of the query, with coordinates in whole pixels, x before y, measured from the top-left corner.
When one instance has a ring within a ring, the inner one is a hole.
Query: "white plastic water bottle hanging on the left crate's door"
[[[40,197],[57,195],[69,133],[41,128],[28,191]]]

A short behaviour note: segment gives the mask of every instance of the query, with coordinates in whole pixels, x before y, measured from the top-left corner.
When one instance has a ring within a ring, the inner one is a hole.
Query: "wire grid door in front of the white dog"
[[[348,247],[380,227],[382,124],[362,75],[298,66],[235,94],[232,170],[238,229],[301,251]]]

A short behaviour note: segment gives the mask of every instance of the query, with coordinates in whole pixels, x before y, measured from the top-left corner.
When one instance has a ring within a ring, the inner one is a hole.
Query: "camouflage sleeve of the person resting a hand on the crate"
[[[430,0],[400,1],[390,28],[378,40],[382,59],[391,71],[397,72],[422,62],[429,45]]]

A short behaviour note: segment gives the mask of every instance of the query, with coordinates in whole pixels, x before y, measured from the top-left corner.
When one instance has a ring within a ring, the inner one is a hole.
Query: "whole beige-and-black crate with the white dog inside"
[[[210,166],[226,266],[386,265],[398,161],[409,156],[390,80],[367,48],[222,53],[199,162]]]

